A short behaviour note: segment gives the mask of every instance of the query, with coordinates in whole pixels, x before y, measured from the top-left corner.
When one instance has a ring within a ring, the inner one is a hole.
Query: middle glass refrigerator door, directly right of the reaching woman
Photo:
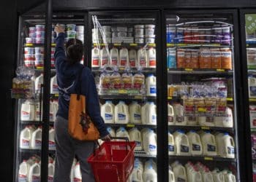
[[[158,25],[157,12],[89,12],[89,66],[102,118],[111,135],[137,143],[130,181],[157,181],[159,172]]]

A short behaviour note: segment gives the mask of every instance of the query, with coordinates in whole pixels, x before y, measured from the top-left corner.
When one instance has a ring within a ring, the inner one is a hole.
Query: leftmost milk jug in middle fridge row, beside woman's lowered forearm
[[[105,104],[101,106],[100,114],[102,118],[104,119],[105,123],[114,123],[115,122],[115,116],[114,116],[114,108],[112,101],[107,100]]]

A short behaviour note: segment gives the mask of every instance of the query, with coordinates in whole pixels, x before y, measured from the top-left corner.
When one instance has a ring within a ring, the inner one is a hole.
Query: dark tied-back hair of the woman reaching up
[[[74,64],[83,58],[83,43],[78,39],[69,39],[66,43],[67,61]]]

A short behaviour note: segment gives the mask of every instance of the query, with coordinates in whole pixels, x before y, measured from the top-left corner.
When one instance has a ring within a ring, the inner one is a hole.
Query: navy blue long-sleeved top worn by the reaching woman
[[[86,109],[91,120],[99,130],[101,137],[108,135],[105,123],[99,111],[99,98],[97,95],[94,76],[89,68],[83,67],[80,63],[70,64],[67,61],[64,50],[64,33],[59,33],[56,38],[56,50],[54,54],[57,82],[59,89],[59,110],[57,116],[68,119],[70,94],[77,93],[75,88],[81,84],[81,94],[86,96]],[[78,78],[83,69],[81,79]],[[80,82],[80,80],[82,80]]]

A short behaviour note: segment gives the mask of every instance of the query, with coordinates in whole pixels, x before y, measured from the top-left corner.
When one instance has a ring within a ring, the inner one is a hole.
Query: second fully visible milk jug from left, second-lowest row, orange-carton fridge
[[[200,141],[200,135],[198,135],[194,130],[191,130],[187,133],[187,137],[189,138],[189,148],[192,156],[202,155],[203,148]]]

